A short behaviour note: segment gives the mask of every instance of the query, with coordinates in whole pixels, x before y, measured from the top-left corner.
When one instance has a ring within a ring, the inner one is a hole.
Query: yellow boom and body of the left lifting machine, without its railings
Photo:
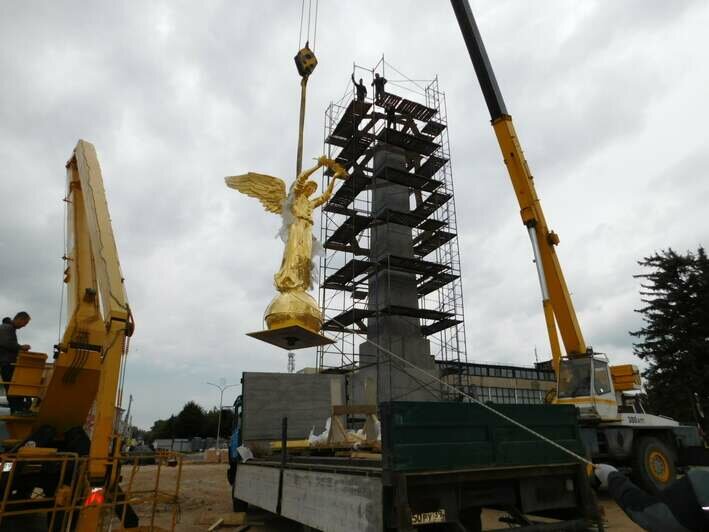
[[[2,459],[17,453],[25,456],[32,447],[24,444],[42,426],[52,427],[59,441],[69,429],[83,427],[90,448],[83,458],[84,477],[76,483],[82,493],[75,497],[81,499],[91,486],[112,489],[119,482],[120,380],[133,321],[94,146],[80,140],[66,170],[67,325],[53,363],[41,353],[18,357],[8,395],[37,400],[31,415],[5,416],[10,440],[3,443],[10,452]],[[51,448],[36,447],[32,452],[61,455]],[[100,519],[99,506],[82,508],[76,530],[93,532]]]

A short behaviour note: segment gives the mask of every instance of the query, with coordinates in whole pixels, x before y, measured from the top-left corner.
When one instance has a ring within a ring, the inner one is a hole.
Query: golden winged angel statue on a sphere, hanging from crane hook
[[[322,195],[312,198],[318,185],[309,177],[318,169],[327,167],[333,172]],[[281,237],[285,241],[281,268],[274,276],[279,294],[266,309],[269,330],[300,326],[318,333],[322,313],[312,296],[307,293],[312,284],[313,211],[332,196],[336,179],[347,179],[347,171],[337,162],[320,157],[318,164],[298,175],[286,194],[282,179],[265,174],[248,174],[225,178],[230,188],[257,198],[268,212],[283,218]]]

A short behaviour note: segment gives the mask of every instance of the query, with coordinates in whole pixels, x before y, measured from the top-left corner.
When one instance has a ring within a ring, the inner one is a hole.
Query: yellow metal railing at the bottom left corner
[[[36,451],[36,452],[35,452]],[[44,515],[47,530],[73,530],[86,515],[95,512],[97,530],[135,526],[135,519],[156,525],[158,511],[165,526],[165,510],[170,530],[179,520],[182,456],[155,453],[91,459],[76,453],[47,453],[46,449],[22,449],[0,454],[0,525],[8,518]],[[103,482],[89,481],[91,460],[106,464]],[[146,462],[152,462],[148,464]],[[143,466],[154,468],[142,475]],[[174,473],[165,482],[164,471]],[[128,471],[126,471],[128,469]],[[116,474],[112,474],[116,472]],[[148,523],[146,523],[147,525]]]

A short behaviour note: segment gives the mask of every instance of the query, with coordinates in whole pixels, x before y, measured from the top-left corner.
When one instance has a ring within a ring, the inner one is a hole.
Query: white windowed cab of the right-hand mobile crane
[[[619,419],[618,400],[605,355],[564,357],[559,361],[557,379],[557,403],[575,405],[582,419]]]

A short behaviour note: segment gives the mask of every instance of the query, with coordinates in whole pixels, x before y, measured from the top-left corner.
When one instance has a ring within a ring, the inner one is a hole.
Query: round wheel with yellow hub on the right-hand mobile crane
[[[656,436],[643,436],[635,447],[633,473],[636,482],[650,493],[658,493],[677,478],[674,450]]]

